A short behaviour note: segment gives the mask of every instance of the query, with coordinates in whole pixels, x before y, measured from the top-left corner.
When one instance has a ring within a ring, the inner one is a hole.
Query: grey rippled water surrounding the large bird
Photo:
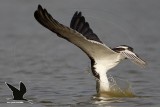
[[[0,105],[3,107],[159,107],[160,1],[156,0],[0,1]],[[129,81],[137,97],[96,100],[90,61],[77,47],[56,37],[33,17],[41,4],[69,25],[76,10],[111,47],[127,44],[148,62],[145,69],[123,61],[109,72]],[[14,103],[8,82],[22,81],[30,102]],[[7,103],[8,102],[8,103]]]

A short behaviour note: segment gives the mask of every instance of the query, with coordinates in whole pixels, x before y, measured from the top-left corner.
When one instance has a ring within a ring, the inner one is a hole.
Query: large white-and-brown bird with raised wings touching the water
[[[122,60],[129,59],[142,67],[146,65],[146,62],[135,54],[130,46],[120,45],[110,48],[105,45],[92,31],[81,12],[75,12],[70,27],[55,20],[41,5],[38,5],[34,17],[41,25],[56,33],[58,37],[66,39],[87,54],[91,60],[92,74],[96,78],[97,93],[110,91],[107,72]]]

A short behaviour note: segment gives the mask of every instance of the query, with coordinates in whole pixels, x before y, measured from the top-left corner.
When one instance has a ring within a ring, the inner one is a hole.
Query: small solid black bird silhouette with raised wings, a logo
[[[26,87],[22,82],[20,82],[19,90],[8,83],[6,85],[13,91],[13,100],[27,100],[23,98],[23,95],[26,93]]]

